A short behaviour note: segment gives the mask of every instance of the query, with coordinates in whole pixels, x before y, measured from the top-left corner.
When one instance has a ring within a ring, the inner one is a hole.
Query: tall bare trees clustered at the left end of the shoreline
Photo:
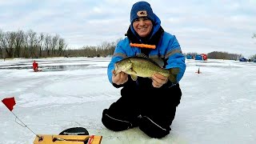
[[[62,56],[67,44],[58,34],[37,34],[33,30],[0,30],[0,58],[38,58]]]

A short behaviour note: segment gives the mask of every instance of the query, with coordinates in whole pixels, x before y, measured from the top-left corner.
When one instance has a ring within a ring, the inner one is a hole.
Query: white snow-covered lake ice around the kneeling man
[[[186,60],[182,100],[170,134],[149,138],[138,128],[122,132],[102,125],[102,110],[120,97],[110,85],[110,58],[0,59],[0,98],[15,97],[14,114],[36,134],[74,126],[102,135],[105,143],[256,143],[256,63]],[[200,70],[201,74],[196,71]],[[0,102],[0,143],[33,143],[35,135],[15,122]]]

